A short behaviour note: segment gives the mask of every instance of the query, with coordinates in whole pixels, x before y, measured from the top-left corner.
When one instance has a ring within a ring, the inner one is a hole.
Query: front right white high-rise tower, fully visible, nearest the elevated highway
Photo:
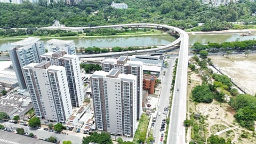
[[[121,70],[95,71],[90,77],[98,130],[133,137],[137,119],[137,76]]]

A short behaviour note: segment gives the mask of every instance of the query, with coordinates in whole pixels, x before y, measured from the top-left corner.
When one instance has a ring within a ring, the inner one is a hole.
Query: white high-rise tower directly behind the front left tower
[[[81,106],[84,102],[84,92],[77,55],[66,54],[65,51],[49,52],[41,55],[41,60],[50,61],[51,65],[65,67],[72,106]]]

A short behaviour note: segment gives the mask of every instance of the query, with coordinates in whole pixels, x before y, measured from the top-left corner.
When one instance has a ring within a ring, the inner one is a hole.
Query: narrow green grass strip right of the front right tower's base
[[[133,138],[134,143],[137,143],[138,140],[142,140],[143,142],[146,140],[148,123],[149,123],[149,117],[146,114],[142,114],[137,131],[135,132],[135,135]]]

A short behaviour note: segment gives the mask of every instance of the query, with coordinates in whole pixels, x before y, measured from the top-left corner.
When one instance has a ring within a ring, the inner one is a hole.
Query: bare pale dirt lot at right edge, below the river
[[[215,66],[221,68],[242,89],[254,95],[256,93],[256,54],[232,54],[210,56]]]

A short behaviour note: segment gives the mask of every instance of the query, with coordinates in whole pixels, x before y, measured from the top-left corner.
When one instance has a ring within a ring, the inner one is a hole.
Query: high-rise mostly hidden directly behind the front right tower
[[[126,56],[121,56],[118,59],[105,59],[101,66],[103,71],[110,71],[114,68],[120,70],[121,74],[137,76],[137,119],[140,119],[142,114],[143,62],[129,61]]]

